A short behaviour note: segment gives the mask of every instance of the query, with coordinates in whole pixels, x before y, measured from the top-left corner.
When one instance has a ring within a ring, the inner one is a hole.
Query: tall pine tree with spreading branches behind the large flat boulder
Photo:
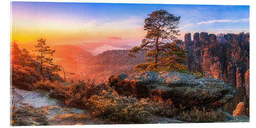
[[[166,10],[157,10],[148,14],[145,19],[144,30],[147,34],[140,46],[130,50],[129,56],[136,57],[141,51],[146,52],[146,63],[139,63],[134,71],[162,71],[180,69],[185,61],[185,51],[176,42],[179,30],[180,16],[176,17]]]

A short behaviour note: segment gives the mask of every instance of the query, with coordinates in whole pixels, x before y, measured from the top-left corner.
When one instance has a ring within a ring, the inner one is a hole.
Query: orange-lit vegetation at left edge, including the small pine
[[[16,41],[12,42],[11,82],[13,86],[32,90],[32,84],[38,80],[62,80],[58,75],[58,66],[52,62],[51,57],[45,57],[48,54],[47,51],[50,50],[49,46],[46,44],[41,44],[41,46],[42,49],[39,50],[41,54],[32,55],[26,49],[19,49]]]

